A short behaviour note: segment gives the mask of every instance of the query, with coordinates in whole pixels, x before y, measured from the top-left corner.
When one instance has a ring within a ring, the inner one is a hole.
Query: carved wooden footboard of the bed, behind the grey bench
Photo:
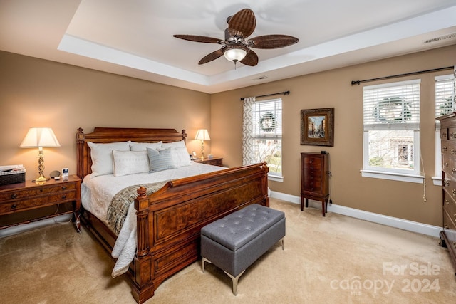
[[[138,251],[133,296],[142,303],[157,286],[199,258],[202,226],[249,204],[269,206],[266,164],[169,182],[145,196],[138,189]]]

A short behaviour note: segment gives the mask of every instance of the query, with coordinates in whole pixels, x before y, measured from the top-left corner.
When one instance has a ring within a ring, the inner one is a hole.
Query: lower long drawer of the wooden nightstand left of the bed
[[[76,191],[66,191],[58,194],[51,194],[44,197],[33,197],[31,199],[6,201],[0,204],[0,214],[10,214],[16,211],[34,209],[36,206],[48,206],[60,204],[68,200],[76,199]]]

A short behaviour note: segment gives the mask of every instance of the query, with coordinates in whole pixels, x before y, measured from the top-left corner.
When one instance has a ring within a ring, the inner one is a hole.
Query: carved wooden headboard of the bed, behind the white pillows
[[[76,170],[81,179],[92,172],[92,158],[87,142],[178,142],[187,138],[185,130],[180,133],[175,129],[95,127],[91,133],[85,134],[83,131],[80,127],[76,133]]]

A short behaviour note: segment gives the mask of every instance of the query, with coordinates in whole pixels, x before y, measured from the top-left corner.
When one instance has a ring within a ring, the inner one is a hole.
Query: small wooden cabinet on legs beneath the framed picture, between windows
[[[309,199],[321,201],[321,211],[326,214],[329,199],[329,154],[301,153],[301,210]]]

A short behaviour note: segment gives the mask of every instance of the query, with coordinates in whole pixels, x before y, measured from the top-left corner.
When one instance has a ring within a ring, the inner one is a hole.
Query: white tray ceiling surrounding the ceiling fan
[[[299,43],[254,49],[258,65],[234,70],[223,57],[198,65],[219,45],[172,37],[222,39],[227,17],[244,8],[257,17],[250,38]],[[423,43],[441,36],[452,38]],[[2,51],[206,93],[452,44],[456,0],[0,0]]]

